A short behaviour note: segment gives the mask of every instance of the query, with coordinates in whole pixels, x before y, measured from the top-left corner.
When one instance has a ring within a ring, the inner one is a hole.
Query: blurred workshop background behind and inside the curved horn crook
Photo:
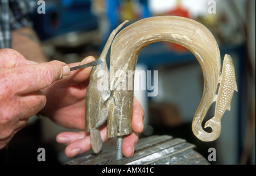
[[[193,135],[191,124],[203,93],[203,74],[199,62],[191,52],[170,43],[151,44],[139,54],[138,70],[158,70],[158,94],[155,97],[148,97],[148,90],[135,91],[135,97],[145,111],[145,129],[140,137],[179,137],[195,144],[195,150],[205,158],[208,158],[208,149],[214,147],[217,160],[212,164],[255,164],[254,0],[45,2],[45,14],[38,14],[39,5],[35,5],[35,10],[31,12],[34,29],[42,40],[42,47],[49,60],[67,63],[81,61],[89,55],[97,58],[110,32],[126,19],[129,20],[129,25],[150,16],[177,15],[207,26],[216,37],[221,60],[223,61],[225,53],[232,56],[238,85],[238,93],[234,92],[233,95],[231,111],[226,111],[221,119],[220,137],[216,141],[205,143]],[[216,3],[216,12],[212,9],[213,3]],[[109,58],[107,60],[109,62]],[[205,119],[213,117],[214,106],[215,103]],[[64,156],[65,146],[55,141],[56,135],[62,131],[67,129],[53,124],[47,118],[31,118],[27,127],[11,141],[10,160],[14,163],[22,161],[34,164],[38,153],[31,151],[44,147],[47,152],[46,163],[63,164],[70,159]]]

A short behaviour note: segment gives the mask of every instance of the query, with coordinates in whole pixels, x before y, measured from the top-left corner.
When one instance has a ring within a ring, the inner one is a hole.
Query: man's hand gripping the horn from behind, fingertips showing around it
[[[81,63],[70,64],[77,66],[94,61],[92,56],[86,57]],[[57,135],[59,143],[67,144],[65,154],[73,157],[91,149],[89,132],[85,132],[85,95],[89,83],[89,74],[92,66],[71,72],[69,76],[56,81],[42,90],[47,95],[47,104],[43,113],[56,124],[63,127],[80,129],[81,132],[62,132]],[[123,139],[122,152],[131,157],[134,146],[138,141],[138,133],[143,131],[144,112],[138,100],[134,98],[133,104],[133,133]],[[106,139],[106,124],[100,127],[102,140]]]

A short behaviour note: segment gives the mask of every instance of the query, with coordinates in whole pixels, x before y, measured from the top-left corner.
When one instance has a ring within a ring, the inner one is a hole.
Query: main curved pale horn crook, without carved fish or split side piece
[[[112,66],[114,68],[114,77],[110,76],[110,90],[113,90],[114,103],[109,110],[111,114],[108,118],[108,137],[132,132],[133,90],[122,90],[122,81],[120,82],[119,78],[127,75],[128,70],[135,70],[141,49],[158,41],[183,45],[195,55],[201,65],[204,91],[192,127],[195,135],[205,140],[200,137],[201,133],[206,133],[205,136],[209,134],[200,127],[217,90],[220,77],[220,51],[212,33],[203,24],[179,16],[155,16],[142,19],[124,28],[115,37],[110,55],[110,74]],[[209,125],[213,129],[212,133],[216,133],[215,126]]]

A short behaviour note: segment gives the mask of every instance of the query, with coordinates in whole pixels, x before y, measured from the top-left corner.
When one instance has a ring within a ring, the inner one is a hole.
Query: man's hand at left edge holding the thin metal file
[[[69,73],[63,62],[36,64],[13,49],[0,49],[0,149],[45,106],[40,90]]]

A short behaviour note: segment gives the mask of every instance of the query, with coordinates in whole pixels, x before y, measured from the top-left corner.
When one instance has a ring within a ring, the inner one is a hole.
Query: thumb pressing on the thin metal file
[[[69,66],[64,62],[50,61],[9,69],[8,81],[13,84],[15,93],[27,94],[44,89],[53,82],[67,77],[69,73]]]

